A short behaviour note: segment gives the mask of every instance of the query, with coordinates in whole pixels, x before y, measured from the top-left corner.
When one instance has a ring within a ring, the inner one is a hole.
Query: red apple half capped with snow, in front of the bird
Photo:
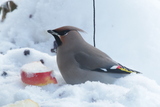
[[[39,62],[25,64],[21,68],[21,80],[25,84],[43,86],[50,83],[57,84],[53,70]]]

